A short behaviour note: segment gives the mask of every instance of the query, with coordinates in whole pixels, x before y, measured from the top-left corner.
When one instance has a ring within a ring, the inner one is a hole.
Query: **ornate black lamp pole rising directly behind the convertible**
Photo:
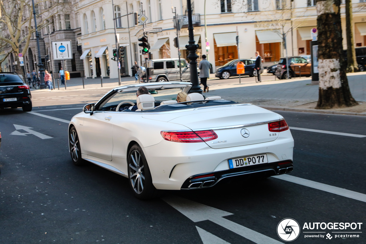
[[[188,34],[189,34],[189,41],[188,45],[186,45],[189,54],[187,58],[191,60],[189,69],[191,73],[191,82],[193,84],[190,93],[198,92],[202,94],[201,86],[198,85],[198,73],[197,73],[197,58],[198,55],[196,54],[196,50],[198,49],[199,45],[194,44],[194,36],[193,36],[193,25],[192,25],[192,6],[191,0],[187,0],[187,12],[188,12]]]

